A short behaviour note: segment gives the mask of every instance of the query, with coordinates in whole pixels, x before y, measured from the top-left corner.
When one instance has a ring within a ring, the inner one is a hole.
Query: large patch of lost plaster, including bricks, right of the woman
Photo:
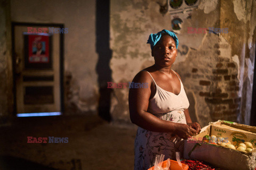
[[[179,57],[179,56],[178,56]],[[238,96],[238,67],[231,59],[225,39],[209,34],[201,48],[190,49],[184,62],[173,65],[187,91],[195,95],[195,114],[202,126],[211,121],[237,121],[241,97]]]

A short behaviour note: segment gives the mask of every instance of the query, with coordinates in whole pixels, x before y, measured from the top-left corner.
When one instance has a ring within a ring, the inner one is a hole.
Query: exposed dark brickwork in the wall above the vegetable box
[[[236,121],[239,112],[238,97],[239,81],[237,79],[237,65],[229,58],[219,57],[215,68],[212,68],[212,79],[200,80],[202,86],[212,86],[210,91],[200,91],[199,96],[211,108],[213,121]]]

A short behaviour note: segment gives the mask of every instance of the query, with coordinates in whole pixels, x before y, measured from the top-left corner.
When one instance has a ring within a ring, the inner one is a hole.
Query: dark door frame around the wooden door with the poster
[[[65,28],[64,24],[58,23],[31,23],[31,22],[12,22],[12,74],[13,74],[13,115],[17,115],[17,96],[16,96],[16,77],[15,77],[15,38],[14,30],[16,26],[27,26],[27,27],[59,27]],[[64,87],[63,87],[63,70],[64,70],[64,34],[60,33],[60,112],[64,113]]]

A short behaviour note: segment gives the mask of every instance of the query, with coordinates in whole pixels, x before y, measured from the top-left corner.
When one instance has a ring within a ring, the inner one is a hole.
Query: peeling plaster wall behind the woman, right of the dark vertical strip
[[[154,64],[146,44],[149,34],[172,29],[172,16],[159,12],[160,2],[111,1],[113,82],[132,81],[140,70]],[[193,121],[202,126],[218,119],[250,124],[255,7],[255,1],[201,0],[191,18],[183,20],[173,69],[181,75]],[[228,33],[187,33],[187,27],[228,28]],[[128,92],[125,88],[114,89],[114,120],[130,121]]]

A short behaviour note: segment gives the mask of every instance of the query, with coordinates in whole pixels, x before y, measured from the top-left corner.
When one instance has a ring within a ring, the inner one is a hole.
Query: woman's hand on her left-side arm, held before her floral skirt
[[[196,134],[195,129],[190,128],[187,124],[177,123],[174,135],[177,135],[182,139],[188,139],[188,137],[191,137],[193,134]]]

